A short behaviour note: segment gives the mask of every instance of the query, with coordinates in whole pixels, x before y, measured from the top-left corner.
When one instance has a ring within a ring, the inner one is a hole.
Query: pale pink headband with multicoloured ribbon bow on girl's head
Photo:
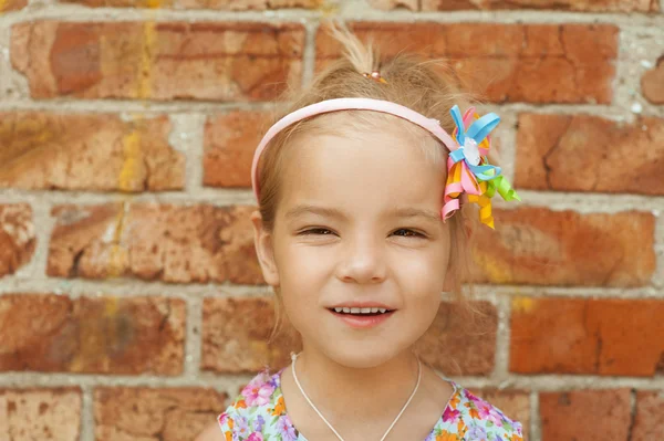
[[[486,158],[490,146],[488,133],[500,120],[497,115],[488,114],[479,118],[475,114],[475,109],[470,108],[461,118],[458,107],[454,106],[452,115],[457,124],[457,129],[454,133],[455,136],[452,137],[440,127],[440,123],[437,119],[427,118],[400,104],[372,98],[338,98],[302,107],[286,115],[270,127],[256,148],[253,162],[251,164],[251,186],[257,201],[260,195],[258,162],[270,140],[279,132],[294,123],[315,115],[339,111],[374,111],[397,116],[424,128],[447,147],[450,155],[447,160],[448,176],[445,189],[445,204],[440,213],[444,220],[458,210],[458,197],[464,192],[469,195],[469,201],[480,206],[480,219],[491,228],[491,207],[488,199],[498,191],[506,200],[518,200],[516,192],[509,187],[507,180],[500,176],[500,168],[490,166]],[[474,118],[476,120],[473,120]]]

